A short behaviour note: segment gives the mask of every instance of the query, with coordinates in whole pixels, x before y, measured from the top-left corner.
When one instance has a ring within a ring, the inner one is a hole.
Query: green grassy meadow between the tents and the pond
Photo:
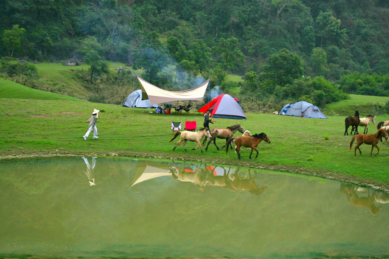
[[[187,152],[182,145],[172,151],[178,139],[169,143],[171,122],[181,121],[184,125],[185,121],[196,121],[200,128],[203,116],[196,112],[180,115],[146,113],[142,109],[91,103],[68,96],[61,99],[58,94],[35,89],[30,89],[34,90],[32,94],[20,85],[4,84],[4,80],[0,86],[0,102],[5,107],[5,119],[0,126],[2,158],[96,154],[185,159],[317,175],[389,190],[389,146],[378,144],[380,153],[370,156],[371,146],[362,145],[362,156],[355,157],[354,149],[348,150],[351,136],[343,136],[342,116],[307,119],[247,113],[247,120],[217,119],[211,127],[225,128],[240,123],[244,129],[252,133],[265,132],[271,139],[271,144],[258,146],[257,159],[250,160],[249,153],[245,152],[241,153],[242,160],[238,160],[233,151],[228,154],[225,149],[217,151],[213,144],[207,152],[203,148],[204,154],[200,149],[191,150],[196,147],[194,142],[187,143]],[[13,87],[12,94],[10,90],[5,91],[10,87]],[[85,141],[82,138],[88,129],[85,121],[94,108],[101,110],[96,124],[99,138],[93,139],[91,134]],[[377,121],[387,119],[377,117]],[[375,125],[370,125],[369,133],[375,131]],[[235,134],[238,135],[240,133]],[[217,140],[219,147],[224,143],[224,140]]]

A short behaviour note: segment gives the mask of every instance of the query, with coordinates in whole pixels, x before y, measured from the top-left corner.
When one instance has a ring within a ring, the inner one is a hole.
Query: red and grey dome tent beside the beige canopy
[[[240,105],[228,94],[217,96],[197,111],[207,112],[208,109],[213,109],[210,114],[213,118],[246,119]]]

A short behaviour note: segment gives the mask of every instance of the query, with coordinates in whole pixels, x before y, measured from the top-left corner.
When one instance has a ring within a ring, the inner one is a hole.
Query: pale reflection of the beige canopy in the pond
[[[145,180],[172,175],[167,165],[163,166],[159,165],[159,163],[152,163],[152,166],[149,166],[147,163],[147,161],[138,161],[138,168],[129,188]]]

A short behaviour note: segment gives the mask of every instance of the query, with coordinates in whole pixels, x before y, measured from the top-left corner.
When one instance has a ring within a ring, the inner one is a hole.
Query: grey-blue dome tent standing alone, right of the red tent
[[[303,113],[303,116],[301,116],[301,113]],[[298,101],[297,103],[289,103],[285,105],[281,110],[281,115],[327,119],[317,106],[306,101]]]

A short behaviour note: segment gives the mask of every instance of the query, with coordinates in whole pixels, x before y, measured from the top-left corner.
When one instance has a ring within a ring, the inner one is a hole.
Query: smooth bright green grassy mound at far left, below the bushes
[[[0,77],[0,98],[85,101],[63,94],[33,89]]]

